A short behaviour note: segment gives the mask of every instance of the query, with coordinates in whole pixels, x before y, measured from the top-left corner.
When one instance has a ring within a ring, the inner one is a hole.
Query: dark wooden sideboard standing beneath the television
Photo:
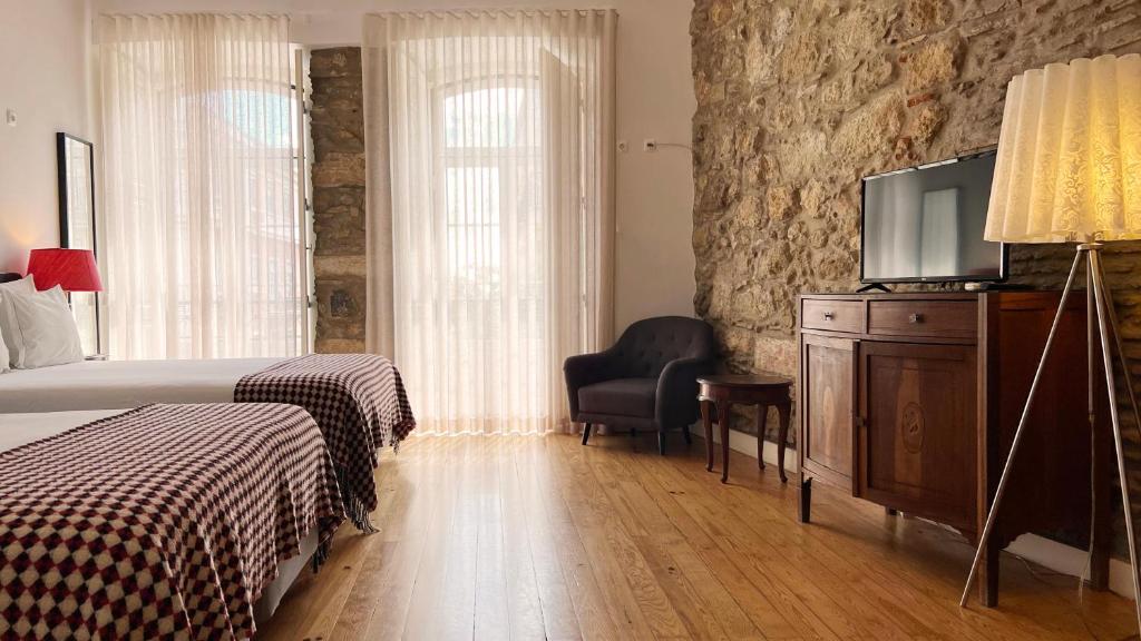
[[[977,544],[1059,299],[800,297],[801,520],[809,522],[815,480],[889,513],[950,526]],[[1085,302],[1082,292],[1070,297],[1031,408],[979,582],[988,606],[997,602],[1000,550],[1028,532],[1065,530],[1089,544],[1091,510],[1092,584],[1108,583],[1111,435],[1104,407],[1094,413],[1099,429],[1090,429]]]

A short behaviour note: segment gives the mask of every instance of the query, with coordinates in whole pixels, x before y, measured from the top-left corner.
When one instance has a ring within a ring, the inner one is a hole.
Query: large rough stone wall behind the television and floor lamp
[[[860,177],[997,144],[1010,79],[1141,51],[1141,0],[697,0],[691,35],[694,306],[730,368],[792,375],[796,295],[857,286]],[[1141,378],[1141,245],[1114,249]],[[1014,248],[1013,279],[1060,286],[1073,255]]]

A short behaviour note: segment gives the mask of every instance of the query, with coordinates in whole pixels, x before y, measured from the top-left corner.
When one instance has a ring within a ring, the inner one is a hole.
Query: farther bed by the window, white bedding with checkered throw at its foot
[[[307,409],[325,436],[349,519],[375,532],[378,452],[415,429],[399,372],[382,356],[84,360],[0,374],[0,414],[232,401]]]

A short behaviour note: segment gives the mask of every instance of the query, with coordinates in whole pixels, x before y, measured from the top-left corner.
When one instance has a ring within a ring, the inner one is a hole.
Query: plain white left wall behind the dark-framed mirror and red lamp
[[[59,243],[56,132],[88,136],[89,39],[83,0],[0,0],[0,271],[23,271]]]

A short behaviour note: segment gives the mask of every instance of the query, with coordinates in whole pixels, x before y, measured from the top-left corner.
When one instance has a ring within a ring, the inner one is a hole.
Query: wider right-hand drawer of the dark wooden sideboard
[[[978,305],[973,300],[873,300],[868,303],[868,334],[972,339],[978,331]]]

